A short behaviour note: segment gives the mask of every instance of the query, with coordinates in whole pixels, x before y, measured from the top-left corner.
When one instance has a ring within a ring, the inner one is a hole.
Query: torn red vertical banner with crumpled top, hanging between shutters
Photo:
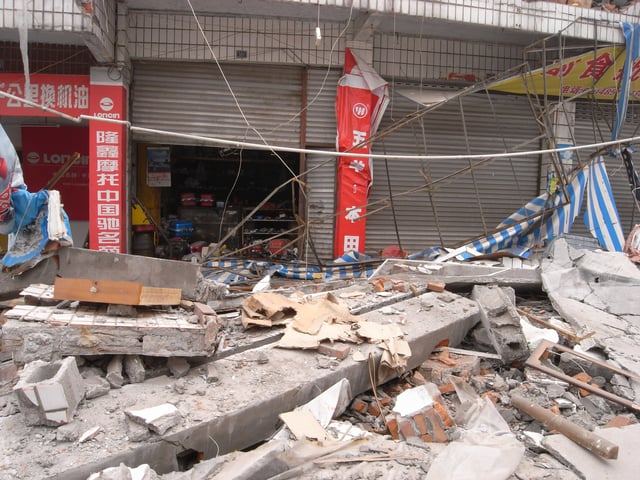
[[[336,94],[338,151],[368,154],[369,144],[359,145],[375,133],[388,103],[387,82],[347,48],[344,75],[338,82]],[[334,255],[341,256],[352,250],[364,253],[365,215],[373,181],[371,159],[338,157],[336,177]]]

